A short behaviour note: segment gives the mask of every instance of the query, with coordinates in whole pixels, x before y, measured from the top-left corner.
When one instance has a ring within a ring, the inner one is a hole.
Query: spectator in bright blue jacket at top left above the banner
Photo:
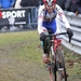
[[[13,8],[15,0],[0,0],[1,9],[10,9]]]

